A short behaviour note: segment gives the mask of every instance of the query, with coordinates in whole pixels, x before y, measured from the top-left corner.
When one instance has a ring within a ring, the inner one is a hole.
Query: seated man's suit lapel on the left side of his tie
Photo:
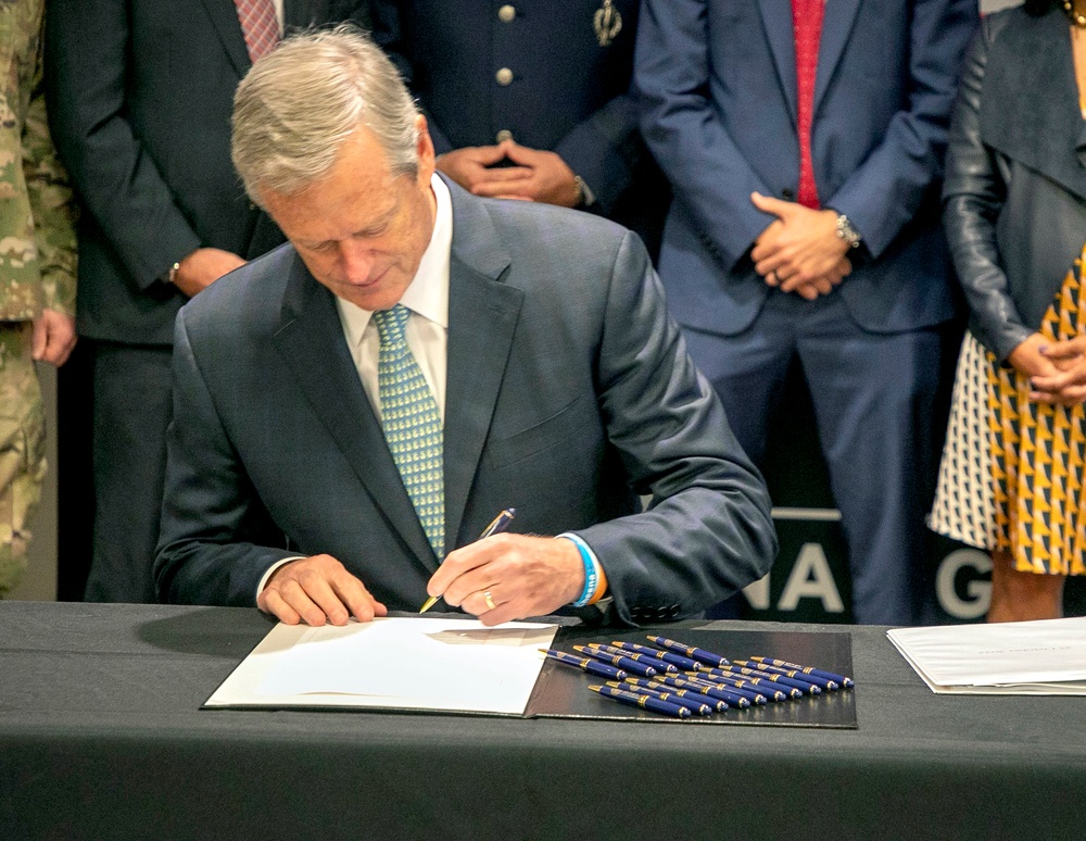
[[[358,379],[334,298],[296,256],[274,341],[386,522],[426,570],[437,569],[438,560]]]

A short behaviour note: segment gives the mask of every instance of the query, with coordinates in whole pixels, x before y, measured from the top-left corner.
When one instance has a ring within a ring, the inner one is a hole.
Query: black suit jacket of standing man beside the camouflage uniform
[[[288,26],[359,16],[359,0],[286,0]],[[361,20],[361,17],[358,17]],[[230,163],[249,53],[231,0],[54,0],[46,79],[83,204],[79,332],[168,344],[186,298],[164,281],[202,246],[255,256],[282,235]]]

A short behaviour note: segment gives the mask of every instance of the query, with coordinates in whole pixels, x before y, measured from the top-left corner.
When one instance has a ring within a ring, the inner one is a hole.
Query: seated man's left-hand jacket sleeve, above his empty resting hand
[[[296,557],[261,504],[204,381],[182,310],[174,328],[174,416],[154,562],[160,600],[252,607],[264,573]],[[281,548],[273,548],[275,543]]]

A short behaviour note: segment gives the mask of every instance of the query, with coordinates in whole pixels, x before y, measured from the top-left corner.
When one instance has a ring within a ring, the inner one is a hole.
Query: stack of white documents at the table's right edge
[[[1086,695],[1086,617],[886,631],[933,692]]]

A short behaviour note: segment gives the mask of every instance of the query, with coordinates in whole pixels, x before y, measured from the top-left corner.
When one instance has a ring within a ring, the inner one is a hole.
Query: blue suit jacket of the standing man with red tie
[[[844,213],[869,259],[839,293],[872,331],[950,318],[938,178],[976,0],[829,0],[811,149],[823,206]],[[774,217],[761,192],[799,184],[796,60],[788,0],[648,0],[635,87],[642,130],[675,199],[660,275],[680,323],[745,329],[768,287],[749,260]],[[855,256],[855,255],[854,255]]]

